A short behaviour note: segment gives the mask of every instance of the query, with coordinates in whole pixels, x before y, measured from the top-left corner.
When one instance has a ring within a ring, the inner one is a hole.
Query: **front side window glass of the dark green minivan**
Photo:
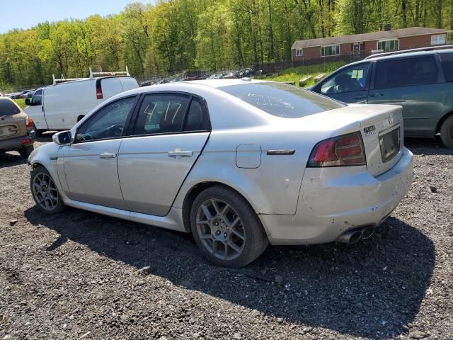
[[[338,72],[321,86],[321,94],[338,94],[367,89],[369,62]]]

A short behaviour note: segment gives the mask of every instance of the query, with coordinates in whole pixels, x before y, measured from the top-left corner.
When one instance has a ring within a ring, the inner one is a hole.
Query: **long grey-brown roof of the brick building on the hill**
[[[292,44],[292,49],[300,47],[314,47],[322,45],[339,45],[348,42],[364,42],[370,40],[380,40],[389,38],[403,38],[410,37],[413,35],[428,35],[428,34],[439,34],[439,33],[451,33],[452,30],[443,28],[428,28],[428,27],[411,27],[401,28],[399,30],[381,30],[379,32],[363,33],[363,34],[351,34],[351,35],[340,35],[338,37],[318,38],[318,39],[307,39],[307,40],[296,40]]]

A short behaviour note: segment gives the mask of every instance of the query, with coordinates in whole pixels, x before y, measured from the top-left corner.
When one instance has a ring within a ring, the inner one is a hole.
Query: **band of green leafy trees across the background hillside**
[[[426,26],[453,28],[453,0],[161,0],[115,16],[0,35],[1,86],[125,69],[154,76],[289,60],[294,40]]]

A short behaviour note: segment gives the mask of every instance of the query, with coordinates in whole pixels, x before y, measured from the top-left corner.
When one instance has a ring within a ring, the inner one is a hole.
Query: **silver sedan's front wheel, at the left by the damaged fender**
[[[44,166],[38,166],[31,171],[30,190],[38,208],[47,215],[54,215],[64,210],[62,196]]]

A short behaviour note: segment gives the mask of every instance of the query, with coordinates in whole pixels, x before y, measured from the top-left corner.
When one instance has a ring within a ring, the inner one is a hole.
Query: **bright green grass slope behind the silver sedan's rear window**
[[[306,82],[304,87],[314,85],[314,77],[320,73],[330,74],[339,67],[345,65],[345,62],[326,62],[324,64],[308,65],[292,67],[284,69],[282,72],[273,74],[272,77],[263,77],[262,79],[273,80],[273,81],[295,81],[296,86],[299,86],[299,80],[311,76],[311,79]]]

